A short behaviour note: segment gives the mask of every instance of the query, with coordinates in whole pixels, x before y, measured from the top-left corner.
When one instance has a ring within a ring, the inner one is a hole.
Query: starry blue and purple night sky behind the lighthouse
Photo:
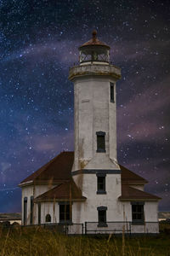
[[[122,68],[118,161],[170,211],[169,0],[0,0],[0,26],[0,212],[20,212],[20,181],[74,150],[68,72],[94,29]]]

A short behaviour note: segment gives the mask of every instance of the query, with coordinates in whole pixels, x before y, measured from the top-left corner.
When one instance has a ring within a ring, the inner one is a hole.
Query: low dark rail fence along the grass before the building
[[[19,225],[20,226],[20,225]],[[21,229],[40,226],[44,229],[55,230],[66,235],[91,235],[91,234],[157,234],[159,233],[159,222],[107,222],[99,224],[98,222],[85,222],[85,224],[31,224],[22,225]],[[17,226],[10,223],[2,224],[3,229],[13,229]]]

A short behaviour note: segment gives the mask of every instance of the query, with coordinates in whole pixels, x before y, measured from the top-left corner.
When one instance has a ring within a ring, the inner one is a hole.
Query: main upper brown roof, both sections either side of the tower
[[[27,183],[63,183],[71,179],[71,168],[74,161],[74,152],[62,152],[42,166],[37,172],[26,177],[20,186]],[[129,171],[124,166],[119,165],[122,170],[122,183],[147,183],[147,181]]]

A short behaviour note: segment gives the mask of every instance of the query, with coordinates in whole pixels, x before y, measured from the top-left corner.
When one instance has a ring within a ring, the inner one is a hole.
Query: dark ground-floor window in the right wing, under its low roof
[[[131,202],[133,223],[144,223],[144,202]]]

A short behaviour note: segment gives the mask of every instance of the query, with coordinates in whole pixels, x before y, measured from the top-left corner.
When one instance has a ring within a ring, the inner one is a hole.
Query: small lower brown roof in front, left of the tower
[[[76,183],[71,181],[60,184],[42,195],[37,196],[34,201],[85,201],[82,191],[77,188]]]

